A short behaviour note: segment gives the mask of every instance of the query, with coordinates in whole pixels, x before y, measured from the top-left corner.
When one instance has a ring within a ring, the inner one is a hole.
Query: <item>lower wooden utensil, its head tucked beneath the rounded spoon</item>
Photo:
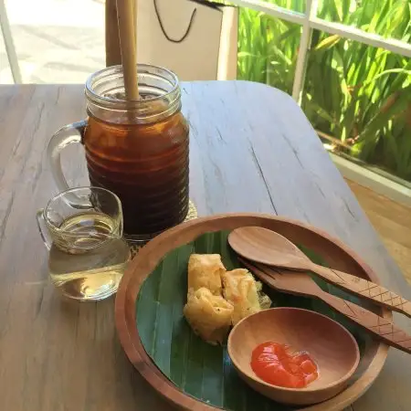
[[[265,282],[272,289],[323,300],[349,320],[361,325],[365,331],[372,333],[374,337],[383,340],[398,350],[411,353],[411,336],[397,327],[392,321],[388,321],[372,311],[365,310],[351,301],[342,300],[321,290],[307,274],[298,271],[271,269],[268,266],[258,263],[253,264],[242,258],[239,258],[239,260],[258,279]]]

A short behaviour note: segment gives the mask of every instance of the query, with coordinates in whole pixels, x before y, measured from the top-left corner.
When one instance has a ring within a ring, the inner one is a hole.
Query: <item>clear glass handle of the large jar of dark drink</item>
[[[69,144],[82,142],[84,130],[87,126],[87,120],[73,122],[62,127],[56,132],[48,142],[47,159],[51,165],[51,174],[58,186],[58,191],[68,190],[68,183],[61,169],[61,151]]]

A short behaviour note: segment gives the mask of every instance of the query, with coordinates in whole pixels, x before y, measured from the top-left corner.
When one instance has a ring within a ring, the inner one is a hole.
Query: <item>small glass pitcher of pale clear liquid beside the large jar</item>
[[[37,225],[50,279],[65,296],[102,300],[117,291],[131,258],[117,195],[100,187],[69,189],[37,212]]]

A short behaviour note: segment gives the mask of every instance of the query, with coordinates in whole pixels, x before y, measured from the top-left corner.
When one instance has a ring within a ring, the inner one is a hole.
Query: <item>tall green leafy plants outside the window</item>
[[[301,2],[273,3],[301,11]],[[322,0],[318,16],[411,38],[411,0]],[[238,76],[290,93],[299,42],[300,26],[242,11]],[[352,155],[411,180],[409,58],[314,30],[301,105],[317,130],[351,146]]]

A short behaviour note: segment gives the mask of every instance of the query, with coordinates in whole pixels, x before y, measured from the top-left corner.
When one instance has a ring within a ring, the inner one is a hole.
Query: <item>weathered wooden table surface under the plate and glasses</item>
[[[191,123],[191,198],[200,216],[266,212],[340,237],[411,299],[411,288],[293,100],[248,82],[185,83]],[[35,214],[57,189],[45,148],[59,127],[85,117],[82,86],[0,87],[0,409],[171,409],[129,364],[117,339],[113,299],[66,301],[47,280]],[[79,150],[69,180],[87,184]],[[411,332],[411,321],[395,315]],[[411,356],[392,349],[355,411],[409,411]]]

